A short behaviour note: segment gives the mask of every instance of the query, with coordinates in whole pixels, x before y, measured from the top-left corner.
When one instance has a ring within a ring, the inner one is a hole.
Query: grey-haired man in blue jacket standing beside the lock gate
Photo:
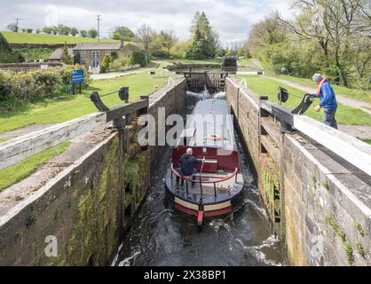
[[[313,81],[318,84],[318,89],[317,93],[312,94],[312,96],[314,98],[320,98],[320,105],[314,109],[316,112],[320,112],[320,109],[323,108],[323,123],[337,130],[337,122],[335,120],[337,103],[334,89],[328,80],[320,74],[313,75]]]

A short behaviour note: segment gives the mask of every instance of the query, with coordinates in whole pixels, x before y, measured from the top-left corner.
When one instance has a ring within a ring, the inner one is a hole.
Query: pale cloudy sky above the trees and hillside
[[[43,28],[58,24],[78,29],[97,28],[101,37],[114,27],[134,32],[146,23],[156,30],[173,30],[181,40],[190,37],[196,11],[205,12],[223,43],[246,40],[254,23],[273,11],[289,17],[292,0],[0,0],[0,30],[20,18],[20,28]]]

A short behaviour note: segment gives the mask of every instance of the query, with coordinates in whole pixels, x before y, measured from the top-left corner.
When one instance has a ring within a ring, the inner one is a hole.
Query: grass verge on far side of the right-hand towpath
[[[298,78],[290,75],[274,75],[277,78],[289,80],[295,83],[300,83],[306,87],[312,87],[316,88],[316,85],[313,83],[311,79],[304,79],[304,78]],[[348,97],[350,99],[358,99],[363,100],[368,103],[371,103],[371,92],[370,91],[362,91],[362,90],[354,90],[345,88],[342,86],[338,86],[333,84],[335,93],[339,95],[343,95],[345,97]]]

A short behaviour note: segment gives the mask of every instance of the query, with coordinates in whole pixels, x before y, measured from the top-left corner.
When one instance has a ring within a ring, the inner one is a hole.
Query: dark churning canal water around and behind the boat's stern
[[[272,235],[249,162],[237,141],[246,179],[243,208],[227,217],[206,220],[200,231],[193,217],[171,209],[164,201],[163,184],[170,167],[168,149],[113,265],[284,265],[281,243]]]

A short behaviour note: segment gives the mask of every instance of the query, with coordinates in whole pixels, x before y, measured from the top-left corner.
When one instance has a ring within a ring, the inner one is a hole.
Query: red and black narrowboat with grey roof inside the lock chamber
[[[195,174],[181,174],[180,159],[187,149],[198,159]],[[204,99],[187,115],[186,128],[173,147],[165,178],[167,201],[175,209],[204,219],[221,217],[243,205],[244,178],[241,173],[233,116],[225,99]]]

